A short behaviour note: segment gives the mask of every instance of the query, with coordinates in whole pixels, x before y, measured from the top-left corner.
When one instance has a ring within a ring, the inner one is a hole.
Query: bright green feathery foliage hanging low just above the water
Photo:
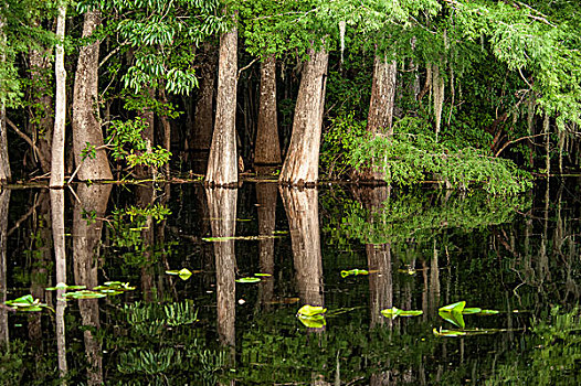
[[[528,173],[509,160],[474,148],[451,149],[431,137],[399,132],[366,136],[355,141],[349,164],[372,168],[390,184],[411,185],[436,179],[446,187],[482,186],[492,194],[517,194],[531,186]]]

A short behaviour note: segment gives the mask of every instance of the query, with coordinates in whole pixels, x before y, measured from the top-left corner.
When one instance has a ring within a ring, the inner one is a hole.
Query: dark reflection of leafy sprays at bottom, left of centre
[[[125,304],[118,314],[125,330],[115,329],[106,336],[110,349],[120,351],[116,361],[119,384],[166,385],[189,379],[214,385],[225,353],[210,350],[203,331],[191,326],[197,315],[191,301]]]

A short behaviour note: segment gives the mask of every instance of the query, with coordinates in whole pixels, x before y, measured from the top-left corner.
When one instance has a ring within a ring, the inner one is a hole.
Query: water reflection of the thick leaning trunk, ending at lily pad
[[[324,305],[318,191],[281,187],[288,217],[295,278],[304,304]]]

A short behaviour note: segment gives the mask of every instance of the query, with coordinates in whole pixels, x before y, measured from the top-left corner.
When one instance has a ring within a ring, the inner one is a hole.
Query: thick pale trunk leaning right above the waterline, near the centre
[[[293,135],[279,181],[292,185],[314,184],[319,178],[319,148],[325,108],[329,55],[309,50],[298,89]]]

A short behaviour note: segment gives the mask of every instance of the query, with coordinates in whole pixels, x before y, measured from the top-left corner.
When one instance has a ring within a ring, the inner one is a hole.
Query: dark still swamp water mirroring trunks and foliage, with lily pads
[[[580,384],[579,197],[4,190],[0,384]]]

